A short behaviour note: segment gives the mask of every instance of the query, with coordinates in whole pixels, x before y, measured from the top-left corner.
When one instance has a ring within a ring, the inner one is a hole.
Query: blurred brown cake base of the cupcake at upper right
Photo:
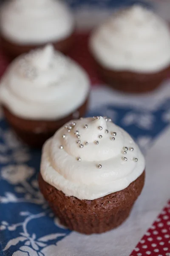
[[[95,61],[95,60],[94,60]],[[109,70],[95,61],[102,79],[116,90],[127,93],[146,93],[159,87],[170,73],[170,66],[157,73],[135,73],[130,71]]]

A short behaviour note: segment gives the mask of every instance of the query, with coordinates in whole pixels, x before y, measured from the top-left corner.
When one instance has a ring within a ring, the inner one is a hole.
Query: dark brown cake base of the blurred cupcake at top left
[[[57,42],[49,42],[54,45],[54,48],[60,52],[67,53],[70,49],[71,45],[74,42],[74,33],[72,33],[68,38],[62,39]],[[0,37],[0,44],[3,51],[8,55],[10,58],[16,58],[17,56],[29,52],[32,49],[43,47],[45,44],[15,44],[11,41],[8,41],[5,37],[1,35]]]

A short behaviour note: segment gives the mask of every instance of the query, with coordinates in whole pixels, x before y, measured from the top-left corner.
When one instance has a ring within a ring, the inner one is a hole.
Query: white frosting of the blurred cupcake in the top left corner
[[[18,44],[44,44],[73,32],[74,18],[59,0],[11,0],[1,8],[0,30]]]

